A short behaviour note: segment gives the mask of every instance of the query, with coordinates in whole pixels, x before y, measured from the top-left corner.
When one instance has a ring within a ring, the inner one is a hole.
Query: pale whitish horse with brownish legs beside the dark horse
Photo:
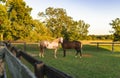
[[[56,53],[57,53],[57,49],[59,48],[59,43],[63,43],[63,38],[57,38],[55,40],[53,40],[52,42],[49,41],[41,41],[40,42],[40,53],[39,56],[40,57],[44,57],[44,49],[53,49],[54,50],[54,57],[57,58]]]

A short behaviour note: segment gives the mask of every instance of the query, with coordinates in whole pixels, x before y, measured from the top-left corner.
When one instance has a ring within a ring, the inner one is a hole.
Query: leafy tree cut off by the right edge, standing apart
[[[110,25],[112,25],[112,28],[114,29],[114,41],[120,41],[120,18],[112,20],[112,23],[110,23]]]

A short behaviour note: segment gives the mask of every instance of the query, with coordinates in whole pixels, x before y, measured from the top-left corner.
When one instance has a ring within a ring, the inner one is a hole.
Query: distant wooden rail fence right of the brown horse
[[[91,42],[91,44],[96,44],[97,49],[99,49],[100,44],[101,45],[111,45],[111,50],[114,52],[114,45],[119,45],[120,42]]]

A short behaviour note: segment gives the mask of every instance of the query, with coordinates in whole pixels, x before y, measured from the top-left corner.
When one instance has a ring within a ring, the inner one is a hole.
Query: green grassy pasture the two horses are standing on
[[[36,44],[27,44],[26,52],[73,78],[120,78],[120,45],[111,52],[111,45],[100,45],[97,49],[96,45],[84,44],[82,58],[75,58],[75,50],[72,49],[67,50],[67,56],[63,57],[61,48],[58,49],[57,59],[53,57],[53,50],[45,50],[45,57],[40,58]],[[33,71],[29,64],[23,62]]]

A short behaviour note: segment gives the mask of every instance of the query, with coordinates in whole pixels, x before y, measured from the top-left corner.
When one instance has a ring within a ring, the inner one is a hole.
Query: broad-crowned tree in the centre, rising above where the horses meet
[[[40,17],[44,17],[46,26],[51,30],[53,37],[59,37],[63,28],[68,28],[69,24],[72,24],[72,18],[67,16],[66,11],[62,8],[46,9],[45,13],[39,12]]]

